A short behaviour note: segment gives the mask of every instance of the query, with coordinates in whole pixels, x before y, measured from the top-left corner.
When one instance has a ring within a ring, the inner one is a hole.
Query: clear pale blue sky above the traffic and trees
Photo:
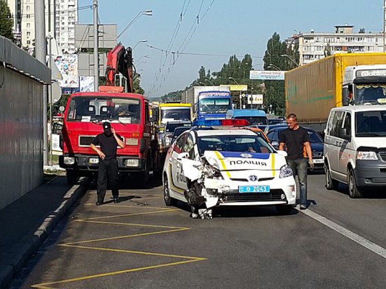
[[[88,5],[92,0],[78,0],[79,7]],[[202,65],[219,71],[234,54],[240,60],[250,54],[254,69],[262,69],[274,32],[282,41],[312,29],[334,32],[335,25],[345,24],[354,25],[354,32],[380,32],[382,7],[383,0],[99,0],[99,18],[100,24],[117,23],[119,34],[141,11],[152,10],[152,16],[139,16],[118,41],[134,47],[147,40],[133,50],[134,64],[145,94],[159,97],[184,89],[198,78]],[[92,23],[92,13],[80,10],[79,22]]]

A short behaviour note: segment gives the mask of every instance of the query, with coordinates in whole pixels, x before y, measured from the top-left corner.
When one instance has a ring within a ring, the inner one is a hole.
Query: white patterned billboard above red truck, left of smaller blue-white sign
[[[76,54],[60,55],[55,58],[55,64],[63,78],[58,81],[60,87],[79,87],[78,56]]]

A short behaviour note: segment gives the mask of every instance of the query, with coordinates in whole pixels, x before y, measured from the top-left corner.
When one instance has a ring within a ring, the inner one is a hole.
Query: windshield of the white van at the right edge
[[[356,136],[386,136],[386,110],[355,113]]]

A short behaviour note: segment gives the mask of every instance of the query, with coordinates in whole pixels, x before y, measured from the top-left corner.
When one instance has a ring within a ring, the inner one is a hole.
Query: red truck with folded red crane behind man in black
[[[156,127],[150,121],[149,100],[141,94],[110,92],[123,90],[123,87],[114,86],[114,78],[122,70],[119,62],[128,56],[122,46],[118,47],[120,49],[109,54],[109,59],[114,56],[114,61],[108,62],[109,86],[101,86],[99,92],[75,93],[68,98],[62,129],[63,156],[59,158],[59,165],[66,169],[70,185],[76,183],[79,176],[98,172],[99,158],[91,150],[90,143],[103,132],[105,121],[112,124],[125,143],[123,149],[117,150],[120,174],[138,174],[138,180],[146,184],[149,175],[162,166]],[[132,91],[131,62],[124,63],[129,64],[124,68],[126,73],[122,73],[127,79],[126,90]]]

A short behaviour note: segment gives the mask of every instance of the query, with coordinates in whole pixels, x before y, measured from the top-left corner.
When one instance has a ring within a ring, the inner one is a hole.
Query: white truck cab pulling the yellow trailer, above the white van
[[[343,105],[385,104],[386,65],[347,66],[342,86]]]

